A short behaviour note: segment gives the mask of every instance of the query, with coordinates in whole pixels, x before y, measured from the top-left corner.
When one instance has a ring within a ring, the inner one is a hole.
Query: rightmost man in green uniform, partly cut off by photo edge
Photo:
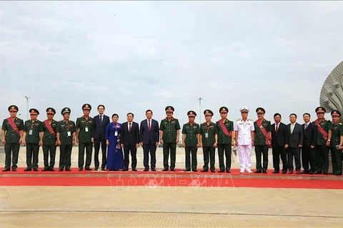
[[[332,138],[331,138],[331,157],[332,174],[342,175],[342,149],[343,149],[343,124],[339,123],[341,113],[339,110],[332,110]]]

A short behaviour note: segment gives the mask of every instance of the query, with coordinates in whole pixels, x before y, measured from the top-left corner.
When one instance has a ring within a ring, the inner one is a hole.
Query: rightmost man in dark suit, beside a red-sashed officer
[[[311,123],[311,115],[304,113],[304,124],[302,130],[304,131],[304,142],[302,143],[302,173],[314,174],[316,172],[316,151],[314,147],[317,145],[317,126]],[[309,169],[309,165],[311,169]]]

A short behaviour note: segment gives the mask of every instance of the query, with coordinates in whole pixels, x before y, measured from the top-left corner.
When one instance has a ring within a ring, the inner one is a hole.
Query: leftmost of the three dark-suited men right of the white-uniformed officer
[[[280,157],[282,160],[282,174],[287,173],[287,150],[284,147],[288,142],[287,125],[281,123],[281,115],[274,114],[275,123],[272,124],[272,152],[274,172],[280,172]]]

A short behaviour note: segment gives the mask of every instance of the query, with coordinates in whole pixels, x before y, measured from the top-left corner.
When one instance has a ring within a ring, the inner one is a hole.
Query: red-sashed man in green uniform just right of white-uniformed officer
[[[254,122],[254,146],[256,154],[256,171],[254,173],[267,173],[268,147],[272,145],[272,124],[264,119],[264,108],[257,108],[257,120]],[[263,155],[263,164],[262,164]]]

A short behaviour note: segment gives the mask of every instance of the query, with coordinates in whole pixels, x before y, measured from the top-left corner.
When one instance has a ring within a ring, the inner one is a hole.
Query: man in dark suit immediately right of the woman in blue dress
[[[132,171],[137,171],[137,147],[139,147],[139,125],[135,123],[134,113],[127,113],[127,122],[121,125],[120,142],[121,147],[124,147],[124,170],[129,170],[129,153],[131,152],[131,167]]]

